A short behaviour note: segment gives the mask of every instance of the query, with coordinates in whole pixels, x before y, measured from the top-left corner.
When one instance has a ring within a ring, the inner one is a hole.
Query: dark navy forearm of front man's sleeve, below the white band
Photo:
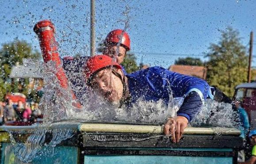
[[[203,107],[203,102],[197,92],[190,92],[183,101],[178,116],[184,116],[190,122]]]

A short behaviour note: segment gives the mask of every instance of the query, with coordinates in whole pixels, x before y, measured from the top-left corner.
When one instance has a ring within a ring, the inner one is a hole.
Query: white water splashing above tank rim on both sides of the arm
[[[40,63],[25,60],[27,65],[35,65],[44,77],[44,96],[39,104],[45,122],[58,121],[84,121],[84,122],[130,122],[144,124],[162,124],[168,117],[176,117],[176,112],[183,103],[183,97],[173,98],[169,91],[168,106],[163,100],[143,101],[138,99],[130,108],[118,108],[107,102],[102,96],[91,92],[84,84],[83,86],[71,85],[71,88],[82,92],[78,99],[83,104],[81,109],[72,106],[71,89],[63,89],[57,83],[54,75],[53,63]],[[74,75],[73,75],[74,76]],[[83,78],[79,75],[79,78]],[[206,99],[203,109],[191,121],[191,126],[214,125],[220,127],[238,127],[234,120],[238,118],[236,111],[227,103],[218,103]]]

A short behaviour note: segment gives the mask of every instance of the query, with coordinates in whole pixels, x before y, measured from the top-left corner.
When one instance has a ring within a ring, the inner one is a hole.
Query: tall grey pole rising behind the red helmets
[[[95,55],[95,0],[91,0],[91,56]]]

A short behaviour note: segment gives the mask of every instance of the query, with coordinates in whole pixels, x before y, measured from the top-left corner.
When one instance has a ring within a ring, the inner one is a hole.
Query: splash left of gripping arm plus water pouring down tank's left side
[[[34,133],[32,133],[25,143],[16,142],[11,134],[11,143],[13,151],[17,158],[22,162],[31,162],[35,157],[53,154],[54,147],[61,141],[66,140],[74,135],[74,131],[70,129],[47,129],[53,122],[78,120],[79,122],[130,122],[142,124],[162,124],[167,115],[173,115],[172,106],[178,99],[170,100],[172,103],[167,107],[162,100],[157,102],[145,102],[138,100],[129,109],[118,108],[108,103],[103,97],[90,92],[88,88],[83,86],[72,86],[76,91],[86,91],[79,99],[83,103],[82,109],[72,106],[71,89],[63,89],[58,83],[55,76],[55,63],[42,63],[25,59],[23,61],[27,67],[34,66],[37,75],[43,77],[45,85],[42,89],[44,95],[39,103],[39,108],[44,114],[44,123],[39,125]],[[170,93],[172,95],[172,93]],[[179,107],[175,107],[178,109]],[[47,122],[47,123],[46,123]],[[23,133],[23,132],[20,132]],[[52,133],[50,142],[46,144],[46,136]]]

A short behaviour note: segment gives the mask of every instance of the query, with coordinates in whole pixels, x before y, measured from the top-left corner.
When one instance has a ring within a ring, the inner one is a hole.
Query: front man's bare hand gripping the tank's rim
[[[187,124],[188,120],[184,116],[177,116],[176,120],[175,118],[168,118],[164,123],[164,134],[172,136],[172,142],[179,142]]]

